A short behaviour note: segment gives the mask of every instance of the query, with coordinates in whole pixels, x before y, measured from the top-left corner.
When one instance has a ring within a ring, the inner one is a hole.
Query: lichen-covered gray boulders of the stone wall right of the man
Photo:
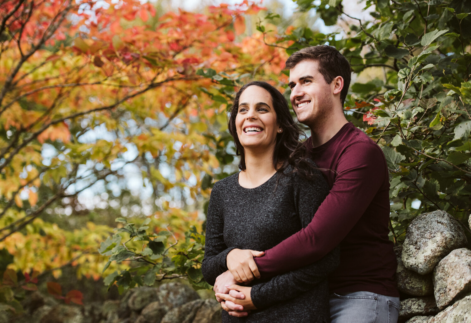
[[[404,244],[394,250],[403,299],[399,323],[471,323],[467,244],[463,226],[444,211],[423,213],[410,223]]]

